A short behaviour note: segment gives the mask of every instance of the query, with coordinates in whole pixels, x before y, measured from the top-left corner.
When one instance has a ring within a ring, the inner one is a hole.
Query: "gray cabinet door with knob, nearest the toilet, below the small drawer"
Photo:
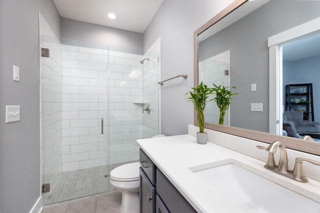
[[[155,187],[140,167],[140,213],[155,212]]]

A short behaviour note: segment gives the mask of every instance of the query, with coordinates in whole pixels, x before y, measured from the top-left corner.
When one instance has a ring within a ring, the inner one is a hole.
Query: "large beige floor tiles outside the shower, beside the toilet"
[[[120,213],[121,193],[109,191],[45,205],[41,213]]]

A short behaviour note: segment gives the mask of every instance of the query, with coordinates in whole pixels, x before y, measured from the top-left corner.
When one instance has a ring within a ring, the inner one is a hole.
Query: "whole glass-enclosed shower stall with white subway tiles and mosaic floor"
[[[136,139],[159,133],[159,42],[143,54],[40,37],[44,204],[112,190],[110,170],[137,161]]]

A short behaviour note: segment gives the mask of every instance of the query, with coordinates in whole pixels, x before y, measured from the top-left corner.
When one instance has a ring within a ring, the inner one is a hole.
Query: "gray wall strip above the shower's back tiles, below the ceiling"
[[[61,18],[61,37],[90,43],[142,49],[142,33]]]

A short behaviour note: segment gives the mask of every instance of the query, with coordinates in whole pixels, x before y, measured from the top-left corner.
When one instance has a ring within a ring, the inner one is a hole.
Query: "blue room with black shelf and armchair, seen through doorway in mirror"
[[[282,46],[283,135],[311,136],[320,141],[320,34],[309,35]],[[316,122],[314,122],[316,121]]]

